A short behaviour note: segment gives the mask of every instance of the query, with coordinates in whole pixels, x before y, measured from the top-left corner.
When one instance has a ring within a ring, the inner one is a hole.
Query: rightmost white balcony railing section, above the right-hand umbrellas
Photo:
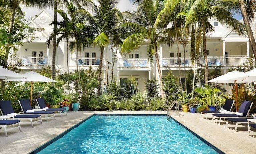
[[[241,66],[247,62],[247,56],[226,56],[227,66]]]

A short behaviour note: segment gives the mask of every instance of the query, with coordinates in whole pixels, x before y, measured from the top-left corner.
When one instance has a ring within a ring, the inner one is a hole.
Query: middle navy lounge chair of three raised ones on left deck
[[[53,117],[56,120],[55,113],[53,111],[37,111],[36,109],[32,109],[30,106],[30,101],[29,99],[21,99],[19,100],[21,110],[24,114],[40,114],[40,115],[45,115],[47,122],[49,122],[49,118]],[[48,114],[53,114],[53,116],[48,117]]]

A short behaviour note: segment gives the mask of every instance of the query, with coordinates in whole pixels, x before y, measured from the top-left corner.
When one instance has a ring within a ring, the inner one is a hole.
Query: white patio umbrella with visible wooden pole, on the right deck
[[[236,80],[234,78],[241,77],[244,74],[244,72],[239,71],[232,71],[228,72],[227,74],[221,75],[217,78],[214,78],[208,82],[214,82],[214,83],[234,83],[235,84],[235,91],[236,91],[236,112],[237,112],[237,83],[243,83],[242,80]]]

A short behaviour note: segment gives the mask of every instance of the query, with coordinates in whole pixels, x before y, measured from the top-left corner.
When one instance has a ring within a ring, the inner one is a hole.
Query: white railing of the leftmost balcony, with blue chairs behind
[[[22,66],[47,66],[50,65],[47,56],[16,56],[13,59],[14,63],[19,63]]]

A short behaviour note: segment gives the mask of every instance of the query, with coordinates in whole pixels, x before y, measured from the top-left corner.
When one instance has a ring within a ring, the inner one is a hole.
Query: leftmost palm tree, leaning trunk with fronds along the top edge
[[[52,4],[51,0],[0,0],[0,5],[3,5],[6,8],[9,8],[12,12],[11,14],[11,22],[8,27],[8,38],[7,38],[7,44],[5,47],[5,58],[3,63],[3,68],[7,67],[7,61],[9,57],[9,51],[10,51],[10,44],[11,44],[11,37],[13,35],[13,25],[14,25],[14,19],[15,15],[17,13],[23,14],[20,5],[25,6],[36,6],[36,7],[43,7],[43,6],[49,6]]]

